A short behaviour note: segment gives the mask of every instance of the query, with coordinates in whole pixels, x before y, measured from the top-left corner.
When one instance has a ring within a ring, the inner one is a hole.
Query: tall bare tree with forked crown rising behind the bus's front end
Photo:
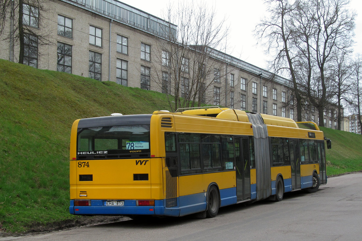
[[[323,110],[328,98],[328,74],[327,65],[336,56],[337,50],[348,51],[352,44],[355,13],[347,9],[348,1],[344,0],[313,0],[313,7],[316,9],[315,16],[311,16],[316,27],[316,34],[313,36],[313,59],[320,73],[320,91],[318,99],[312,99],[318,110],[319,125],[324,126]]]

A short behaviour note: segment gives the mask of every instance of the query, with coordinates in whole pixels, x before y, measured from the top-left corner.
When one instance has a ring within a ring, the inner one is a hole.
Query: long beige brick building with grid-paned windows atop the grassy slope
[[[42,8],[24,3],[24,64],[114,81],[145,90],[169,92],[170,57],[167,43],[177,26],[117,0],[41,0]],[[16,20],[9,19],[0,36],[0,58],[17,62],[19,44],[6,38]],[[40,38],[41,36],[41,38]],[[182,59],[180,95],[192,89],[192,55]],[[200,64],[200,63],[199,63]],[[202,102],[296,119],[291,81],[218,50],[210,50],[204,65]],[[336,129],[333,108],[325,126]],[[317,122],[316,112],[305,111],[306,121]]]

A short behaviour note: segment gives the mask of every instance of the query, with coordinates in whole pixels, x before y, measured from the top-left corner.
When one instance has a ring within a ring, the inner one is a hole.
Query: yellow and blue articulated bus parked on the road
[[[219,107],[76,120],[70,213],[214,217],[235,203],[315,192],[327,175],[314,125]]]

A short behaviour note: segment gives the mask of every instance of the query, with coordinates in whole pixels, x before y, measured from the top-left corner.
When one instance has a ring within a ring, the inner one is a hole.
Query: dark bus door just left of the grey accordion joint
[[[249,139],[247,137],[235,137],[234,140],[236,196],[239,202],[251,198]]]

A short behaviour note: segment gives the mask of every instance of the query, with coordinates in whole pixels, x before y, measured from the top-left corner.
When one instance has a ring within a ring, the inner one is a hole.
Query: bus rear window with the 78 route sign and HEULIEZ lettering
[[[80,128],[77,135],[77,155],[150,152],[150,125]]]

